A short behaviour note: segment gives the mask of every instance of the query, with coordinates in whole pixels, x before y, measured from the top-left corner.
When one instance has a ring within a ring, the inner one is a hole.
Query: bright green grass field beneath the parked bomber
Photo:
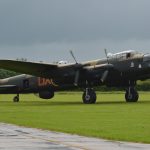
[[[82,104],[82,93],[58,93],[42,100],[34,95],[0,95],[0,122],[112,140],[150,143],[150,93],[126,103],[124,93],[98,93],[97,104]]]

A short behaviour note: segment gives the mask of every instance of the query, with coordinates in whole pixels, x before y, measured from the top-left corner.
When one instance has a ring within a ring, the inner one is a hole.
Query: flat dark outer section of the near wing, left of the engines
[[[0,68],[13,70],[34,76],[49,77],[57,69],[56,64],[23,62],[17,60],[0,60]]]

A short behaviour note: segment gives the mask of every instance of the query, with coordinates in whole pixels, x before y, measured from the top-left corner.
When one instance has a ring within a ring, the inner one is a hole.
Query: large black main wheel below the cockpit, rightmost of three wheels
[[[126,102],[137,102],[139,94],[134,88],[129,88],[125,94]]]

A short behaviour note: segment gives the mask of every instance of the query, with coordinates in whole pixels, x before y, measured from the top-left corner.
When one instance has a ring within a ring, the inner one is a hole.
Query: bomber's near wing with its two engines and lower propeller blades
[[[75,84],[77,84],[79,80],[79,71],[82,69],[87,71],[100,70],[103,73],[101,80],[105,80],[108,76],[109,71],[114,69],[114,66],[112,64],[93,65],[90,63],[57,65],[35,62],[22,62],[17,60],[0,60],[0,68],[45,78],[56,77],[57,75],[61,74],[61,71],[67,72],[69,68],[72,68],[76,70]]]

